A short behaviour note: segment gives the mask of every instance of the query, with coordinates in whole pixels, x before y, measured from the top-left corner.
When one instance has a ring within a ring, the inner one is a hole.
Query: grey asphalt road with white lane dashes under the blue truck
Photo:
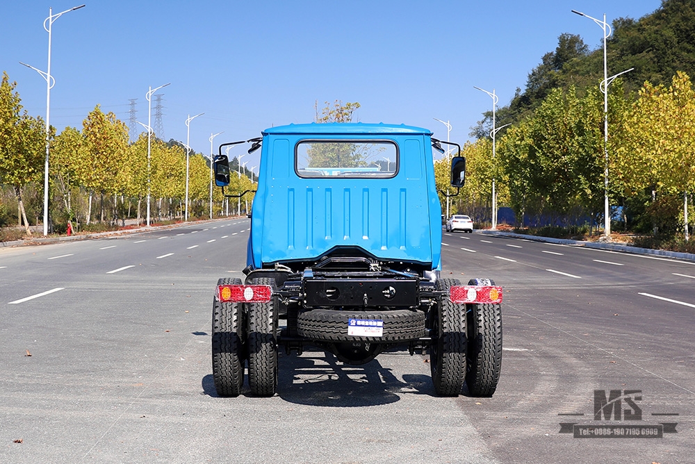
[[[493,397],[435,397],[426,355],[306,351],[275,397],[219,398],[213,289],[249,225],[1,249],[0,463],[695,463],[695,263],[445,233],[445,277],[505,289]],[[641,420],[595,420],[595,390]]]

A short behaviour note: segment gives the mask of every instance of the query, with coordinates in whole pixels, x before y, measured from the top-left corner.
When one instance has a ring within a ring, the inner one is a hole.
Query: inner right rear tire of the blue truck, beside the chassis
[[[456,279],[442,279],[437,281],[437,290],[448,291],[452,285],[461,283]],[[430,369],[434,391],[443,397],[455,397],[461,392],[466,376],[466,315],[448,296],[440,297],[436,310],[430,314]]]

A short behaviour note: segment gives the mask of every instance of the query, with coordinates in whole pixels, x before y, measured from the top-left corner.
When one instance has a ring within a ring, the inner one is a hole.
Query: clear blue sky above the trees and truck
[[[423,126],[468,140],[492,99],[504,106],[561,33],[591,49],[603,31],[579,10],[610,23],[640,17],[660,0],[534,1],[154,1],[6,0],[0,7],[0,70],[17,81],[31,115],[46,115],[46,83],[19,64],[47,68],[53,13],[87,6],[53,23],[51,125],[81,129],[97,103],[129,123],[129,99],[147,123],[145,94],[163,94],[163,135],[208,154],[220,142],[266,127],[311,122],[314,102],[359,101],[361,122]],[[609,73],[622,69],[612,69]],[[153,98],[153,126],[154,126]],[[144,129],[138,126],[138,131]],[[256,154],[256,156],[258,156]],[[254,160],[250,160],[254,163]],[[252,165],[250,164],[250,165]]]

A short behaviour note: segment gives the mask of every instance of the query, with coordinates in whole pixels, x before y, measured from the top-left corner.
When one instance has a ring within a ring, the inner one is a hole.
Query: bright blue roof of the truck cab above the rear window
[[[276,134],[418,134],[432,135],[429,129],[404,124],[368,124],[363,122],[329,122],[318,124],[288,124],[265,129],[263,135]]]

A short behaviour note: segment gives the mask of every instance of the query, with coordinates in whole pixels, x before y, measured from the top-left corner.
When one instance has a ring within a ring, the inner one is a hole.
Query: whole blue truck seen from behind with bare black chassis
[[[458,395],[464,382],[492,395],[502,289],[440,276],[432,148],[445,142],[414,126],[362,123],[291,124],[247,142],[261,163],[245,281],[220,279],[213,301],[218,394],[239,395],[247,367],[251,394],[274,395],[279,347],[311,345],[360,365],[400,345],[429,351],[438,395]],[[214,162],[223,192],[226,145]],[[464,173],[455,156],[453,187]]]

